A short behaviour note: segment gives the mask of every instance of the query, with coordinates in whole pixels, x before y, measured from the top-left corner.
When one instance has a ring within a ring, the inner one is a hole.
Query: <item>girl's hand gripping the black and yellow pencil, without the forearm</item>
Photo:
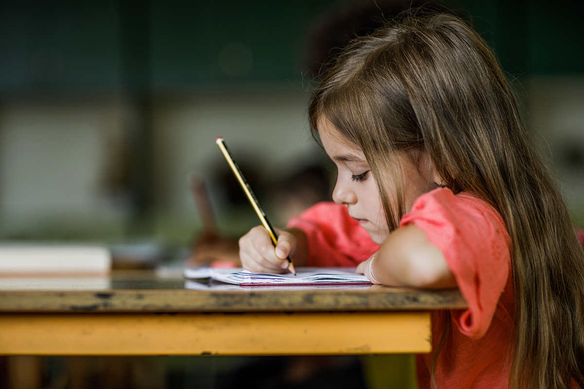
[[[263,226],[253,227],[239,239],[239,258],[244,269],[252,273],[283,273],[288,267],[288,255],[296,251],[297,240],[286,230],[275,229],[276,247]]]

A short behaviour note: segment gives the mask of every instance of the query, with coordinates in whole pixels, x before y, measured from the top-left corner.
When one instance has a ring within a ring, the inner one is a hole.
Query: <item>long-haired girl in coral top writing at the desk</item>
[[[433,314],[420,387],[584,387],[584,254],[474,30],[438,14],[360,38],[308,112],[338,167],[337,205],[292,220],[275,249],[252,229],[239,241],[245,268],[375,253],[357,267],[371,282],[458,287],[467,300],[465,311]]]

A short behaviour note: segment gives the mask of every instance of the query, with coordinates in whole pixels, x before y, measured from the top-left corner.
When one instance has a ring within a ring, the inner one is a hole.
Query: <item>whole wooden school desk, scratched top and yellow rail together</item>
[[[430,310],[457,290],[189,290],[153,272],[0,279],[0,355],[430,352]]]

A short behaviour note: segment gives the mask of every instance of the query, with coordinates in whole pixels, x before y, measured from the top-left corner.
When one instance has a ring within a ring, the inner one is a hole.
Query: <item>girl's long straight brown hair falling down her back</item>
[[[325,118],[363,150],[390,229],[405,212],[406,183],[392,208],[385,177],[403,150],[426,150],[455,193],[492,204],[512,241],[509,387],[570,388],[573,379],[584,388],[584,253],[498,61],[470,26],[409,15],[353,41],[315,90],[309,115],[313,135]]]

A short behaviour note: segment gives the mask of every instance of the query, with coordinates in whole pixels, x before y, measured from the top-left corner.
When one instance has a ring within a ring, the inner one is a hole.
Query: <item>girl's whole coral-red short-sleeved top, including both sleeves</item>
[[[507,387],[514,306],[510,239],[502,218],[481,199],[439,188],[416,199],[400,220],[400,226],[412,223],[442,250],[468,304],[465,310],[432,313],[434,351],[447,313],[455,328],[437,365],[437,387]],[[317,204],[288,226],[307,234],[311,266],[356,265],[379,248],[342,205]],[[418,356],[420,389],[432,387],[432,358]]]

